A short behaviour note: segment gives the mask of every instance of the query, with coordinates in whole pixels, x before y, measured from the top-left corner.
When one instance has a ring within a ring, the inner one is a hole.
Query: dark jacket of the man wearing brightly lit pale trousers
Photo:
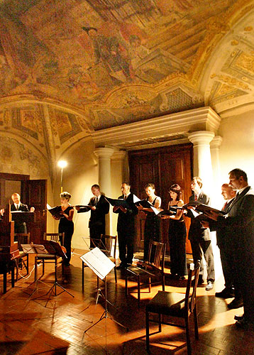
[[[191,197],[189,197],[189,202],[194,202],[194,200],[195,196],[193,194]],[[203,191],[200,192],[197,201],[201,202],[202,204],[207,204],[207,206],[210,205],[210,198],[204,194]],[[192,212],[189,210],[187,211],[187,217],[192,219],[191,225],[189,226],[188,239],[192,241],[210,240],[209,229],[204,228],[197,219],[194,219]]]

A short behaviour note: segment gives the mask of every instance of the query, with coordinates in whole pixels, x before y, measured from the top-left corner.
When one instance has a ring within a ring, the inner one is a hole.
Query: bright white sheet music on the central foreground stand
[[[80,258],[101,280],[116,266],[98,247],[80,256]]]

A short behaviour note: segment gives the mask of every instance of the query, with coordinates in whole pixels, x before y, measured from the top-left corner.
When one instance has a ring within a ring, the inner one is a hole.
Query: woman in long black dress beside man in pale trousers
[[[168,209],[175,212],[172,207],[182,207],[184,202],[181,200],[182,189],[180,185],[174,184],[170,186],[170,202]],[[185,253],[186,243],[186,226],[181,209],[177,209],[176,214],[164,215],[162,219],[170,219],[168,229],[168,238],[170,242],[170,273],[173,278],[184,279],[187,275],[187,263]]]

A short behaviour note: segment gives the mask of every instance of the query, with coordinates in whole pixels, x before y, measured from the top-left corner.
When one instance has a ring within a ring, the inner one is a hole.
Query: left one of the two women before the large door
[[[160,208],[161,199],[155,195],[155,185],[149,182],[145,185],[145,193],[148,200],[155,208]],[[145,230],[144,230],[144,260],[148,260],[149,242],[160,241],[160,218],[156,216],[151,208],[145,208],[140,204],[137,206],[140,211],[145,212]]]

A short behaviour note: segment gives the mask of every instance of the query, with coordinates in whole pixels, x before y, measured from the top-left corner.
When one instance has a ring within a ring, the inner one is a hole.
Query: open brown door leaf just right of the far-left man
[[[28,207],[35,207],[35,222],[28,223],[31,232],[31,241],[40,244],[47,226],[47,180],[26,180],[21,184],[23,203]]]

